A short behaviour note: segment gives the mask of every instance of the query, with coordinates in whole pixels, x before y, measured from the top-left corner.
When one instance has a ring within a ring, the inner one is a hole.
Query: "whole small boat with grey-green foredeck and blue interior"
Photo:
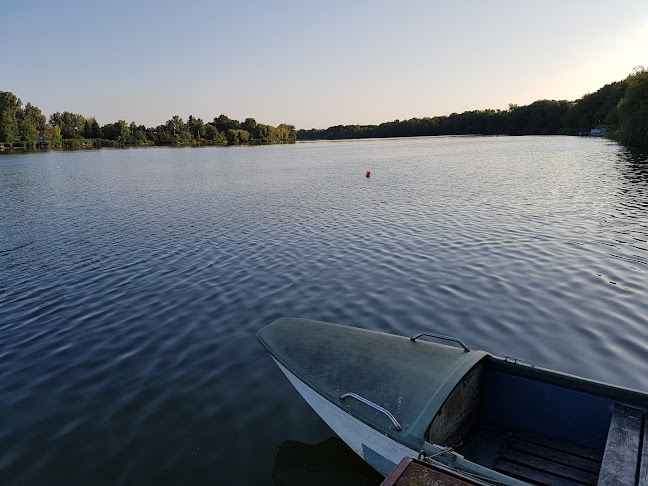
[[[648,486],[645,392],[431,333],[408,338],[282,318],[258,339],[318,415],[384,476],[419,456],[492,484]]]

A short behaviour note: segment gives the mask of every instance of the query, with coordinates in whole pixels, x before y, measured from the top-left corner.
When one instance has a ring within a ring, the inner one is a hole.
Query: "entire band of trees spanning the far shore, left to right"
[[[145,127],[118,120],[99,125],[94,117],[64,111],[49,119],[41,110],[0,91],[0,150],[77,149],[146,145],[240,145],[293,143],[295,140],[414,137],[429,135],[586,135],[603,128],[631,147],[648,147],[648,70],[639,66],[626,79],[603,86],[576,101],[540,100],[507,110],[473,110],[449,116],[395,120],[380,125],[337,125],[295,131],[220,115],[211,122],[173,116]],[[600,130],[599,130],[600,133]]]

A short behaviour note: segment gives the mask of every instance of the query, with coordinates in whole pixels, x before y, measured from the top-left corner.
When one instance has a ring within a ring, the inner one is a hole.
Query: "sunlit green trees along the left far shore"
[[[56,112],[49,119],[41,110],[9,91],[0,91],[0,147],[102,147],[144,145],[239,145],[294,143],[293,125],[278,127],[220,115],[211,122],[189,116],[185,122],[173,116],[163,125],[145,127],[118,120],[99,125],[95,117]]]

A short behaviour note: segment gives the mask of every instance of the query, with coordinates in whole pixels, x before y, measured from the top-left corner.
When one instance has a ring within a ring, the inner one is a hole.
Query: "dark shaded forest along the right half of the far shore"
[[[508,110],[475,110],[449,116],[395,120],[380,125],[337,125],[298,130],[297,140],[416,137],[426,135],[578,135],[605,127],[608,136],[648,146],[648,70],[576,101],[541,100]]]

